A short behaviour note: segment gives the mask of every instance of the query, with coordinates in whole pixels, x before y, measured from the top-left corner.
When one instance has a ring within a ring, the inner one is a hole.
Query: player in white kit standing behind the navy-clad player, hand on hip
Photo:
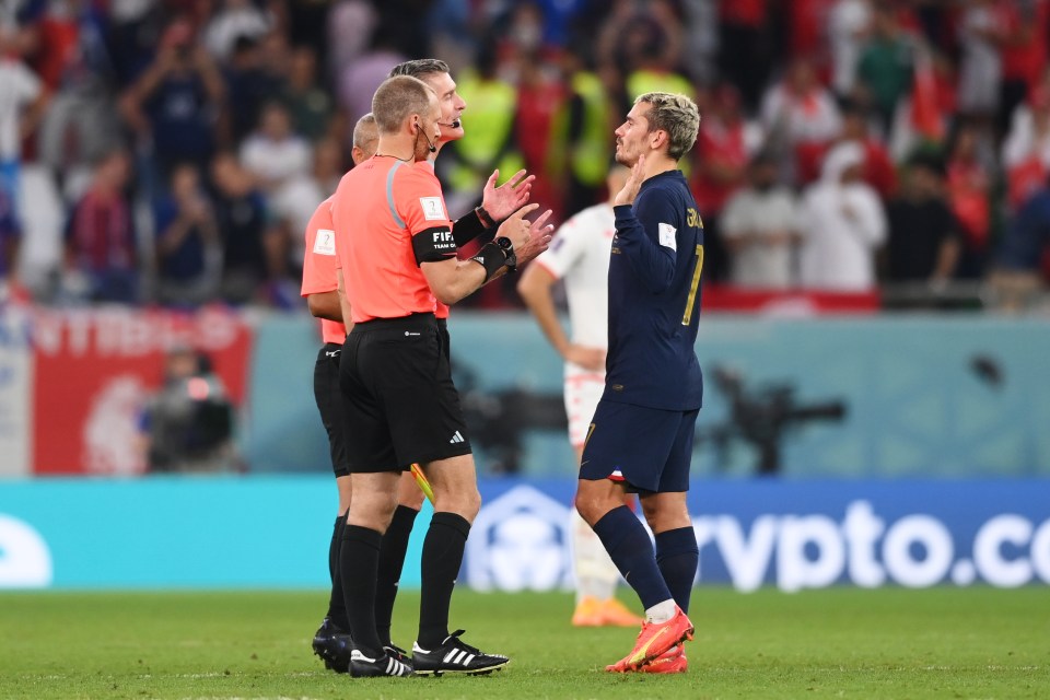
[[[607,177],[610,198],[623,188],[630,170],[615,165]],[[605,351],[608,346],[608,273],[616,233],[609,201],[588,207],[570,218],[557,232],[550,248],[529,265],[517,284],[544,335],[565,361],[565,412],[569,442],[583,454],[594,409],[605,390]],[[564,284],[572,338],[558,318],[551,288]],[[633,497],[629,497],[633,504]],[[576,509],[572,515],[573,565],[576,578],[576,627],[637,627],[641,618],[616,596],[620,581],[600,540]]]

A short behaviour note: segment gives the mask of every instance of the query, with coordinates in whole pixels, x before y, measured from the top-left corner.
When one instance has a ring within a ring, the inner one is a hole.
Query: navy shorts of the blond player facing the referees
[[[611,479],[641,493],[688,491],[699,412],[600,400],[583,445],[580,478]]]

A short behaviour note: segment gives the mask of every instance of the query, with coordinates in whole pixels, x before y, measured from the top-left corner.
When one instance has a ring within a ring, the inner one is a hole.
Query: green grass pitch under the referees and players
[[[1046,587],[702,587],[689,673],[677,676],[605,673],[635,632],[570,627],[568,594],[458,591],[453,625],[511,655],[508,668],[352,679],[311,654],[325,603],[323,592],[2,593],[0,698],[1050,698]],[[418,606],[415,592],[398,600],[401,645]]]

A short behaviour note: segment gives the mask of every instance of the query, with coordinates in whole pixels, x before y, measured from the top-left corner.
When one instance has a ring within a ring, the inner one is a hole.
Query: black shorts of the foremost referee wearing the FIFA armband
[[[395,471],[470,454],[447,350],[433,314],[354,324],[339,384],[351,472]]]

